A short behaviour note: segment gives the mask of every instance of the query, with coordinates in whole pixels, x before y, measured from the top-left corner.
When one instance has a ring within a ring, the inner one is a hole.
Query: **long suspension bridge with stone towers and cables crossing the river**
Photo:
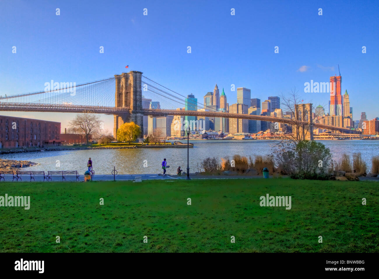
[[[167,115],[244,118],[293,125],[290,118],[217,112],[198,102],[195,110],[177,110],[186,104],[185,96],[143,76],[139,71],[130,71],[107,79],[66,86],[54,84],[50,90],[22,93],[0,97],[0,110],[28,112],[74,112],[103,113],[114,115],[114,133],[125,122],[133,121],[143,131],[143,116]],[[160,109],[144,108],[143,98],[160,103]],[[310,104],[312,107],[312,104]],[[198,110],[205,109],[205,110]],[[308,112],[312,113],[312,112]],[[309,118],[312,119],[312,118]],[[309,125],[309,122],[302,122]],[[330,131],[352,132],[348,128],[313,123],[314,128]],[[310,133],[313,134],[312,129]],[[312,138],[312,137],[311,137]]]

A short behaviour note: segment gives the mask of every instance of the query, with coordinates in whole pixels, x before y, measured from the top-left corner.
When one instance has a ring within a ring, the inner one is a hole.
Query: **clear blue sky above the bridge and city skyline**
[[[231,84],[250,88],[261,101],[296,87],[304,102],[327,111],[329,93],[304,93],[304,82],[329,82],[338,63],[354,120],[363,111],[373,119],[379,116],[378,14],[378,1],[2,0],[0,95],[41,91],[52,79],[99,80],[129,65],[199,101],[216,83],[229,104],[236,102]],[[0,114],[61,121],[62,129],[74,117]],[[113,117],[102,118],[113,131]]]

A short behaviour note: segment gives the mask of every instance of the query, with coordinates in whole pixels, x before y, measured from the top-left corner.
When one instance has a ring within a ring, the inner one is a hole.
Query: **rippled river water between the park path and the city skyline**
[[[207,157],[232,158],[235,154],[247,158],[255,155],[265,156],[271,154],[271,147],[278,143],[274,140],[190,140],[190,142],[194,143],[194,147],[189,148],[190,172],[197,172],[198,164],[200,168],[200,162]],[[343,153],[349,154],[352,159],[353,153],[360,152],[367,163],[368,172],[371,170],[371,158],[379,155],[379,140],[321,140],[320,142],[330,148],[334,160],[339,160]],[[187,148],[69,150],[0,155],[1,159],[38,163],[23,170],[78,170],[80,174],[86,171],[89,157],[97,174],[111,174],[114,166],[119,174],[160,173],[163,158],[166,158],[167,165],[170,166],[168,174],[175,174],[178,166],[184,171],[187,167]],[[57,160],[60,167],[56,166]]]

